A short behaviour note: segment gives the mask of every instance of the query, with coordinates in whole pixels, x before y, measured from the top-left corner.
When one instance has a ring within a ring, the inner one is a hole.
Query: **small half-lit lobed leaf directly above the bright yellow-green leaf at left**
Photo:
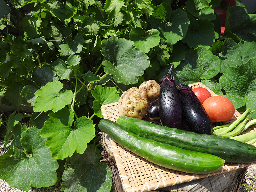
[[[72,69],[67,67],[67,64],[61,60],[57,59],[53,62],[53,69],[56,71],[56,74],[60,77],[60,80],[70,79],[70,74],[72,73]]]

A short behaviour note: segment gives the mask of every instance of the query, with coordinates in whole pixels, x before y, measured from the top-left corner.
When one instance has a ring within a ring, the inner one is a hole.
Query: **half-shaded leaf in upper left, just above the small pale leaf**
[[[62,55],[74,55],[80,53],[83,49],[84,37],[81,33],[78,33],[74,40],[69,44],[60,44],[59,51]]]

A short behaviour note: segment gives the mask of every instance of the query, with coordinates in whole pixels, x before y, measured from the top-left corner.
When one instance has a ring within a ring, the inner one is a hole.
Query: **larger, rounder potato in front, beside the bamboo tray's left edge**
[[[137,87],[125,91],[118,100],[119,116],[142,119],[147,114],[147,92]]]

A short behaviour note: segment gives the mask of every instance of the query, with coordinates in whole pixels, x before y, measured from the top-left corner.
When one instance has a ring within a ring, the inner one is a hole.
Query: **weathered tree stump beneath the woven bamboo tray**
[[[125,192],[118,173],[115,157],[108,137],[102,133],[102,156],[111,171],[116,192]],[[208,176],[190,182],[159,188],[153,192],[238,192],[248,167]],[[147,191],[147,190],[145,190]]]

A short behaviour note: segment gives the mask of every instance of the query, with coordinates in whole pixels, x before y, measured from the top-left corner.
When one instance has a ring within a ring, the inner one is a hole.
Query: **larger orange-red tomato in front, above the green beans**
[[[231,100],[222,96],[213,96],[203,103],[211,122],[230,121],[235,114],[235,107]]]

